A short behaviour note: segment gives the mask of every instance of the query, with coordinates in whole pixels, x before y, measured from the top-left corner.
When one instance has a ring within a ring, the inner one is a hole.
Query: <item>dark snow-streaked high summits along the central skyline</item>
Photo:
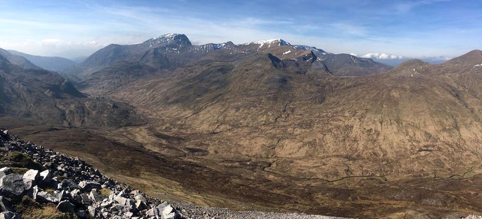
[[[360,76],[390,69],[389,66],[371,59],[361,59],[349,54],[332,54],[313,46],[292,45],[281,38],[237,45],[231,41],[193,45],[185,34],[167,33],[139,44],[110,44],[99,49],[82,63],[80,75],[86,76],[119,62],[140,62],[156,69],[174,70],[210,55],[216,60],[234,60],[257,53],[271,53],[289,60],[297,60],[299,57],[303,59],[308,55],[313,58],[312,61],[326,65],[334,75]]]

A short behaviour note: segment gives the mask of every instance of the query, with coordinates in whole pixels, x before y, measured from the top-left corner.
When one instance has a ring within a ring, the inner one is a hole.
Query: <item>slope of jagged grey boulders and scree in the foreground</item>
[[[171,204],[114,181],[77,157],[23,141],[2,128],[0,151],[20,152],[41,164],[23,175],[15,167],[0,168],[0,218],[32,218],[30,211],[15,212],[28,201],[56,206],[63,214],[55,218],[341,218]]]

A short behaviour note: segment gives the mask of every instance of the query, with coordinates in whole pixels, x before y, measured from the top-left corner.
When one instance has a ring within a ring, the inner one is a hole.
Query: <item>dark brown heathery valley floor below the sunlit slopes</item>
[[[225,171],[215,162],[155,152],[121,130],[33,126],[2,119],[0,125],[25,140],[79,156],[109,177],[154,197],[198,205],[185,212],[195,218],[207,218],[206,213],[220,215],[215,218],[332,218],[257,210],[355,218],[460,218],[482,212],[482,176],[469,173],[387,181],[300,181],[265,172],[266,164],[256,160],[239,160]]]

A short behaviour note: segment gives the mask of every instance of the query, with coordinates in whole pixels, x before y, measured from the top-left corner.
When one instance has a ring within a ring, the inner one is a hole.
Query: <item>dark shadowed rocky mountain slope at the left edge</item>
[[[87,98],[59,74],[0,60],[0,113],[33,123],[122,126],[140,118],[125,104]]]

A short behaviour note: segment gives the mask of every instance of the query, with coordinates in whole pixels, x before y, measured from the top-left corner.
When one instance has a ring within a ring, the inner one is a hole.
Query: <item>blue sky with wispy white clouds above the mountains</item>
[[[482,0],[0,0],[0,47],[73,58],[164,33],[193,44],[282,38],[379,59],[482,49]]]

